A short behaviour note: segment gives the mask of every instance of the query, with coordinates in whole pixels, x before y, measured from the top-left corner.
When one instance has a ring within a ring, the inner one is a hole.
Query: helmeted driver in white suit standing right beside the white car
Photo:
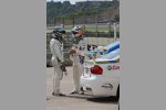
[[[84,62],[87,53],[86,41],[83,37],[83,30],[81,26],[74,26],[72,30],[73,35],[73,46],[70,51],[70,57],[73,61],[73,79],[74,79],[74,90],[72,94],[80,92],[80,77],[84,73]]]

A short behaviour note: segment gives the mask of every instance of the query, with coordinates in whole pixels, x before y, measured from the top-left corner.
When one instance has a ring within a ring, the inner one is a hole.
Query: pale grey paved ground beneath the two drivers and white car
[[[91,92],[85,95],[69,95],[73,90],[72,67],[66,67],[69,73],[61,81],[61,92],[66,97],[52,96],[53,68],[46,68],[46,110],[118,110],[117,100],[114,97],[95,98]]]

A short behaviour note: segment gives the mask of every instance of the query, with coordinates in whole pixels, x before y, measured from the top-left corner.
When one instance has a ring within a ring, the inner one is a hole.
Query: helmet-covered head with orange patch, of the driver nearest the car
[[[72,30],[71,30],[71,33],[74,35],[74,36],[80,36],[80,35],[83,35],[84,32],[83,32],[83,29],[82,26],[74,26]]]

